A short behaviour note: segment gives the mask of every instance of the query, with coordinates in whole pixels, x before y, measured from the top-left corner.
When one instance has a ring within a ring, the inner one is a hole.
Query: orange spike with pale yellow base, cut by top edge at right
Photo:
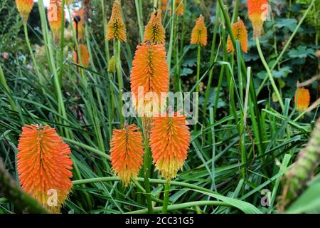
[[[268,0],[247,0],[247,11],[253,26],[253,35],[262,35],[263,22],[267,19]]]

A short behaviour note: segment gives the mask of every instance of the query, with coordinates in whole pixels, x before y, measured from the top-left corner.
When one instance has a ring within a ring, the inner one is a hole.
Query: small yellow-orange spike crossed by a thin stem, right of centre
[[[241,50],[247,53],[247,28],[245,28],[245,24],[242,20],[238,20],[232,26],[233,28],[233,35],[235,36],[236,40],[240,41]],[[230,36],[228,37],[228,53],[235,52],[235,48],[233,47],[233,42],[231,41]]]

